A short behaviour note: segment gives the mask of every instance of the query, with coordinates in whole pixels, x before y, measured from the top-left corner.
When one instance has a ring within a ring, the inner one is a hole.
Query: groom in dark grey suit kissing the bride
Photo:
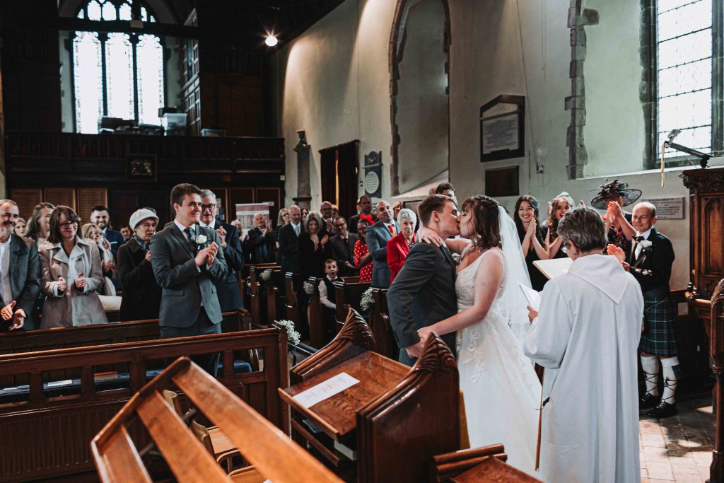
[[[449,196],[431,195],[420,203],[422,224],[442,240],[460,234],[458,206]],[[424,340],[417,330],[458,312],[455,296],[455,262],[443,244],[416,243],[405,265],[387,291],[390,324],[395,332],[400,356],[397,360],[412,366],[422,352]],[[455,353],[455,332],[442,336]]]

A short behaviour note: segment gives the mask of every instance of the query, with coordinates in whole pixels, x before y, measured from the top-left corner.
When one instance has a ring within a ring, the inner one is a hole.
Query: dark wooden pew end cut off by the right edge
[[[711,301],[695,298],[694,293],[688,293],[687,299],[707,330],[709,355],[714,361],[712,371],[716,383],[712,406],[716,416],[716,438],[709,481],[724,482],[724,280],[715,287]]]

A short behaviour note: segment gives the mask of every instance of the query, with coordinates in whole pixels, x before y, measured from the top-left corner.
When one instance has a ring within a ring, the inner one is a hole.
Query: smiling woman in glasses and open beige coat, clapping
[[[41,329],[108,322],[98,298],[104,283],[98,245],[77,236],[78,218],[58,206],[50,218],[48,241],[38,249],[43,270]]]

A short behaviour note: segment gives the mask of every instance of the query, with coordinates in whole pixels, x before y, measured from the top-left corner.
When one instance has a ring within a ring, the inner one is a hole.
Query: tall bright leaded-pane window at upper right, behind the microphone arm
[[[715,0],[714,0],[715,1]],[[712,0],[657,4],[658,146],[673,129],[675,142],[712,151]],[[665,157],[681,156],[673,149]]]

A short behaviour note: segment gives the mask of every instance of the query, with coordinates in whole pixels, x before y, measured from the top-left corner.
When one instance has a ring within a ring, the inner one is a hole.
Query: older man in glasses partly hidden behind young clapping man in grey
[[[239,232],[232,224],[219,222],[216,212],[219,209],[216,195],[211,190],[201,190],[201,220],[199,225],[214,230],[222,242],[224,260],[229,266],[229,274],[224,280],[214,280],[216,295],[219,296],[219,306],[222,312],[235,311],[244,306],[239,291],[237,277],[240,277],[244,266],[244,252],[239,240]]]

